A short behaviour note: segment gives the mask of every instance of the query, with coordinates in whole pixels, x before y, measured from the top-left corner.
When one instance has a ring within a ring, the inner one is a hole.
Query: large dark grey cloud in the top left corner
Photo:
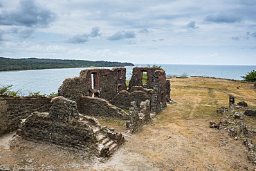
[[[3,9],[0,14],[0,25],[5,26],[47,28],[56,19],[54,12],[35,4],[34,0],[21,0],[15,10]]]

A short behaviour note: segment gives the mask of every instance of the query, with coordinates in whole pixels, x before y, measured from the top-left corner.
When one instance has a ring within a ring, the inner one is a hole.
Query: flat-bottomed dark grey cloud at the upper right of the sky
[[[241,21],[241,17],[233,13],[219,12],[218,14],[210,14],[205,17],[204,21],[210,21],[214,23],[235,23]]]

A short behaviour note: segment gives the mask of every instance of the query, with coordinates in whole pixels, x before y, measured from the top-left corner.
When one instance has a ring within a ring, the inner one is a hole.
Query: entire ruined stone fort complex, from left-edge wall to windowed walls
[[[0,136],[17,131],[24,139],[47,141],[107,157],[125,142],[120,132],[94,117],[122,119],[136,132],[170,102],[170,81],[161,68],[82,70],[65,79],[60,97],[0,95]]]

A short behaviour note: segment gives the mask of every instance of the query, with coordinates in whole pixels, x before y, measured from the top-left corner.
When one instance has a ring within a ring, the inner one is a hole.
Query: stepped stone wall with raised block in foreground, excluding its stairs
[[[95,151],[93,129],[79,119],[75,101],[55,97],[49,113],[34,112],[21,123],[19,135],[24,139]]]

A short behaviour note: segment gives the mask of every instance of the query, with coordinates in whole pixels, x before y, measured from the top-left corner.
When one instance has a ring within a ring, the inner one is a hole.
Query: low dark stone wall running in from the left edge
[[[51,97],[18,97],[0,95],[0,136],[15,131],[21,119],[26,119],[32,112],[48,112]]]

